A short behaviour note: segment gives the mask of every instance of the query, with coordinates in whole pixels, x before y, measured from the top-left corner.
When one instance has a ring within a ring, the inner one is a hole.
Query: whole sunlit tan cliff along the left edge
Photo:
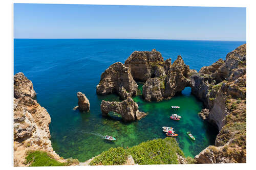
[[[41,150],[63,161],[51,145],[51,117],[36,100],[33,84],[22,72],[14,76],[14,166],[25,166],[26,152]]]

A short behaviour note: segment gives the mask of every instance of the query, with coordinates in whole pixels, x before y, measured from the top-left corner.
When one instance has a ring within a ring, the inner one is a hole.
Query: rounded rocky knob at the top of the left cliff
[[[23,96],[35,98],[36,93],[32,82],[24,76],[23,72],[19,72],[14,76],[14,98],[18,99]]]

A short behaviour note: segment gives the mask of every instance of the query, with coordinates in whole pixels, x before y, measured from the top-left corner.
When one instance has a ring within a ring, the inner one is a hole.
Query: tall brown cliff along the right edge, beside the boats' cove
[[[195,157],[198,163],[246,162],[246,44],[191,76],[192,93],[209,109],[219,129],[215,146]]]

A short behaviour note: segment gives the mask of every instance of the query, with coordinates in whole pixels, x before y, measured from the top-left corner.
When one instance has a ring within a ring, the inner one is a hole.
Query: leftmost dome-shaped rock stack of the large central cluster
[[[138,85],[132,77],[131,69],[117,62],[102,73],[96,92],[102,95],[117,93],[121,99],[126,99],[135,95],[137,88]]]

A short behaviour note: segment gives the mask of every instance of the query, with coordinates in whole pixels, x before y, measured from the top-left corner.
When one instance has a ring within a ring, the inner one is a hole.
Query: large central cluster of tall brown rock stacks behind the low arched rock
[[[145,82],[142,96],[146,101],[170,99],[190,86],[191,71],[194,70],[185,65],[181,56],[172,64],[171,59],[164,61],[161,53],[155,49],[151,52],[135,51],[124,65],[118,62],[103,72],[97,93],[116,92],[122,99],[126,99],[136,94],[136,80]]]

